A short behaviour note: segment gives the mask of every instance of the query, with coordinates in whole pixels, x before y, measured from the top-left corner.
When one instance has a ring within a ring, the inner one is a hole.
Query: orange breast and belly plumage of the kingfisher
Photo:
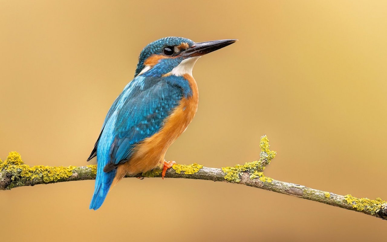
[[[120,180],[126,174],[147,172],[163,164],[169,146],[184,132],[195,116],[199,102],[199,92],[194,77],[184,74],[192,89],[192,96],[182,98],[171,115],[166,118],[163,127],[153,136],[138,144],[132,158],[118,166],[116,178]],[[115,185],[118,180],[113,181]]]

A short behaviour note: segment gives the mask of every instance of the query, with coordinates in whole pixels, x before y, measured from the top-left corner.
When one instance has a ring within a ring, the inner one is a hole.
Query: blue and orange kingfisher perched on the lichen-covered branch
[[[97,176],[90,209],[98,209],[125,175],[152,169],[165,172],[169,146],[187,129],[197,111],[199,92],[192,77],[202,55],[235,43],[223,39],[195,43],[166,37],[140,53],[134,79],[111,105],[87,161],[97,157]]]

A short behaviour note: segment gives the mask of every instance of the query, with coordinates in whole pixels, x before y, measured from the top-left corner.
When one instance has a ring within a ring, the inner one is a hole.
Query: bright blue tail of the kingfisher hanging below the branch
[[[103,201],[106,198],[106,195],[108,195],[111,183],[113,182],[117,170],[114,169],[110,172],[104,172],[103,167],[100,169],[98,168],[94,195],[90,203],[90,209],[94,210],[97,210],[99,207],[101,207]]]

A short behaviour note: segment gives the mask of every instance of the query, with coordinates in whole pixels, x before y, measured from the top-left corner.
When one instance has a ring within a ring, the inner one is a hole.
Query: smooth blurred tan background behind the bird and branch
[[[0,157],[87,165],[142,48],[166,36],[238,38],[197,62],[199,111],[166,158],[387,199],[387,2],[0,2]],[[92,161],[95,163],[95,160]],[[1,237],[40,241],[375,241],[383,220],[235,184],[124,179],[0,191]],[[168,209],[170,208],[170,209]],[[168,209],[168,210],[164,210]]]

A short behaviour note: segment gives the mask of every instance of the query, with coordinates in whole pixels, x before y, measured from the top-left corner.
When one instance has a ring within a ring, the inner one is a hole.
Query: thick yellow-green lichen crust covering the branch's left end
[[[0,163],[0,170],[12,174],[12,182],[8,189],[36,178],[42,178],[46,183],[57,182],[60,179],[69,178],[75,168],[75,166],[29,166],[24,164],[20,154],[15,151],[10,152],[7,159]]]

